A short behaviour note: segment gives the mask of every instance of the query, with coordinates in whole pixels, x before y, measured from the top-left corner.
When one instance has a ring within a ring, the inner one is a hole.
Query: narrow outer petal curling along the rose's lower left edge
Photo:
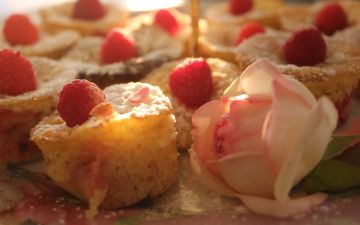
[[[224,182],[223,179],[211,173],[204,167],[193,149],[189,150],[191,167],[199,179],[210,189],[226,196],[235,196],[236,193]]]

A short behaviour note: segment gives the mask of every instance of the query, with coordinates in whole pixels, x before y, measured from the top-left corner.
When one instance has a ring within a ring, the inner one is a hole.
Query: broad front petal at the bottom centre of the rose
[[[241,152],[218,161],[220,174],[238,193],[273,197],[275,175],[262,152]]]

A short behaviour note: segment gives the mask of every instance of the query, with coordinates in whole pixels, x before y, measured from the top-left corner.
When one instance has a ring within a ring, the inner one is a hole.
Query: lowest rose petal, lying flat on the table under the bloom
[[[289,199],[287,201],[276,201],[250,195],[238,195],[244,204],[252,211],[274,217],[289,218],[309,211],[313,207],[322,204],[327,195],[316,193],[309,196]]]

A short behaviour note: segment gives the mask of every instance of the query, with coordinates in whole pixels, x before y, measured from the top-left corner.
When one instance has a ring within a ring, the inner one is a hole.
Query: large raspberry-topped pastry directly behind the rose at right
[[[347,118],[351,97],[359,81],[360,51],[334,38],[323,38],[315,28],[293,34],[269,32],[244,41],[236,50],[240,68],[257,59],[270,59],[278,69],[305,84],[315,97],[330,97]]]

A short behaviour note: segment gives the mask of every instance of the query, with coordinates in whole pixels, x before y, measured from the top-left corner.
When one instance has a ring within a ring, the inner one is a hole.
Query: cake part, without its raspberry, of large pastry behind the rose
[[[236,49],[240,68],[246,68],[257,59],[268,58],[279,70],[294,76],[317,97],[326,95],[337,106],[340,118],[347,117],[347,108],[360,78],[360,51],[348,43],[327,38],[327,56],[315,66],[287,64],[282,56],[282,46],[289,33],[269,32],[257,35]]]

